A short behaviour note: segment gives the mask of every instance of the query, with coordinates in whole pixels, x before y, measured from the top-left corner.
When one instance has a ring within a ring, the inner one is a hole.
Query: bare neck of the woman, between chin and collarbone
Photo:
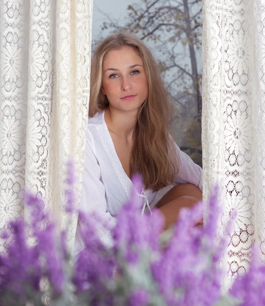
[[[133,139],[137,116],[138,110],[124,112],[108,107],[105,111],[108,130],[128,140]]]

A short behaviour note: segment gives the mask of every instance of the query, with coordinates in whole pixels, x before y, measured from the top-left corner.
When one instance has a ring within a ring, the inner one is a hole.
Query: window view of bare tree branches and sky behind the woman
[[[160,65],[174,114],[172,136],[201,166],[201,0],[94,0],[92,48],[127,29]]]

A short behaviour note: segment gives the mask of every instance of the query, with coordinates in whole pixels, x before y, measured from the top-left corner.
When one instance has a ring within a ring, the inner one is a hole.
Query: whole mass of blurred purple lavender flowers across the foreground
[[[66,191],[67,212],[74,212],[73,164],[68,165]],[[202,203],[193,209],[182,209],[179,220],[162,233],[163,217],[159,210],[140,215],[138,193],[142,190],[139,176],[135,189],[111,228],[95,214],[79,212],[83,250],[71,266],[66,235],[55,240],[55,224],[44,212],[45,202],[25,193],[31,223],[10,223],[13,243],[7,255],[0,254],[0,305],[24,305],[34,300],[42,305],[40,280],[47,277],[51,304],[92,306],[191,306],[191,305],[262,305],[265,304],[265,267],[258,261],[257,249],[245,277],[237,279],[231,290],[221,296],[224,271],[218,263],[225,249],[225,239],[217,243],[220,209],[217,193],[210,199],[210,214],[204,228],[196,227],[202,218]],[[106,227],[114,246],[107,248],[98,236]],[[25,233],[31,230],[37,242],[27,245]],[[227,228],[226,230],[227,231]],[[9,239],[7,232],[0,233]]]

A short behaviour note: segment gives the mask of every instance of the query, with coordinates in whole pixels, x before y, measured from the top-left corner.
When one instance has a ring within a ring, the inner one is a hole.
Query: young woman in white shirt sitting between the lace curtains
[[[201,200],[202,169],[168,134],[169,106],[158,65],[140,39],[122,32],[102,41],[91,65],[82,211],[96,211],[114,225],[134,188],[134,173],[142,176],[142,213],[151,210],[158,191],[175,185],[156,205],[165,228],[182,207]],[[104,226],[99,235],[111,246]],[[76,238],[76,251],[80,247]]]

